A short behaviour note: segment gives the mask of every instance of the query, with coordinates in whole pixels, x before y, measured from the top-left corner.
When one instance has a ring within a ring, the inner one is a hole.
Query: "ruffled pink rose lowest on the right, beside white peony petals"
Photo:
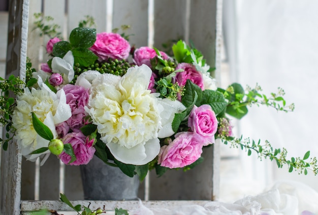
[[[193,132],[175,135],[169,145],[164,145],[158,155],[158,164],[163,167],[181,168],[190,165],[201,157],[202,137]]]

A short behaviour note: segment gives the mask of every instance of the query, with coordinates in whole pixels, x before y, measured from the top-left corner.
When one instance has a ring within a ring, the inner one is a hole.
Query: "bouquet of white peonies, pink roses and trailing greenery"
[[[278,167],[317,173],[309,151],[289,160],[285,148],[233,136],[230,117],[242,118],[251,105],[292,111],[282,89],[266,96],[259,86],[218,88],[213,68],[182,40],[170,53],[133,47],[124,34],[78,27],[69,41],[50,39],[46,50],[51,57],[40,70],[28,60],[25,78],[0,82],[3,148],[14,140],[27,160],[40,158],[43,165],[52,153],[67,165],[85,165],[95,155],[143,180],[151,169],[162,175],[195,167],[204,148],[220,139]]]

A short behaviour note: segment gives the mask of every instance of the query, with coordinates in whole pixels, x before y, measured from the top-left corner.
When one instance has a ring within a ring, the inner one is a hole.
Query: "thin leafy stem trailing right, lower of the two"
[[[298,174],[304,173],[307,175],[308,170],[311,170],[315,175],[318,174],[317,159],[315,157],[309,158],[310,151],[307,151],[303,158],[292,157],[291,159],[288,159],[286,148],[274,149],[267,140],[265,143],[261,144],[261,140],[256,143],[249,138],[243,139],[242,136],[240,138],[218,136],[218,138],[220,138],[224,144],[230,143],[233,148],[241,148],[242,150],[247,151],[248,156],[254,151],[257,153],[260,160],[264,158],[269,158],[271,161],[274,160],[276,161],[278,168],[282,168],[283,165],[288,165],[289,172],[295,170]]]

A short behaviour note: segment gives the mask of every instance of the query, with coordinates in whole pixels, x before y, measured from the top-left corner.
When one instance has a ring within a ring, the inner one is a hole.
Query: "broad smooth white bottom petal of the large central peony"
[[[132,148],[120,146],[117,143],[107,143],[112,155],[118,161],[125,164],[144,165],[152,161],[160,151],[159,139],[154,138],[143,144],[138,144]]]

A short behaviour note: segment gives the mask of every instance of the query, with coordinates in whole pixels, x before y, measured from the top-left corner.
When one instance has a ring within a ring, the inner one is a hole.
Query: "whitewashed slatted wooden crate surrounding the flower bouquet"
[[[203,52],[207,63],[216,68],[213,75],[219,79],[221,0],[12,0],[10,4],[13,5],[13,2],[17,4],[17,7],[16,10],[11,7],[9,17],[17,19],[21,18],[22,14],[26,16],[28,14],[28,19],[24,21],[22,19],[18,25],[9,23],[8,53],[12,51],[13,43],[10,38],[14,35],[10,33],[10,27],[17,26],[14,29],[16,37],[17,32],[20,33],[18,29],[23,24],[27,24],[26,55],[32,59],[34,66],[40,65],[48,57],[45,53],[48,38],[39,37],[39,32],[33,30],[34,13],[41,12],[44,16],[53,17],[54,22],[61,26],[65,39],[85,15],[90,15],[96,20],[98,33],[109,32],[122,24],[130,25],[131,29],[127,33],[133,35],[130,37],[130,43],[136,47],[150,45],[162,49],[162,44],[171,40],[184,39],[186,42],[190,40]],[[28,10],[22,13],[19,5],[26,9],[28,7]],[[25,50],[15,51],[18,55],[25,52]],[[20,70],[19,68],[10,69],[7,57],[7,74],[8,71],[19,72]],[[39,167],[35,163],[21,159],[19,150],[14,144],[10,147],[9,150],[14,151],[13,155],[10,154],[12,152],[2,152],[0,214],[19,214],[17,211],[21,208],[22,211],[29,211],[41,206],[65,209],[65,206],[61,206],[60,202],[56,201],[60,192],[64,192],[71,200],[83,200],[79,167],[61,166],[54,156],[51,156],[44,166]],[[163,177],[157,178],[151,172],[148,181],[146,180],[147,188],[145,189],[143,183],[139,197],[147,201],[215,199],[219,189],[219,146],[215,144],[207,148],[204,156],[206,159],[203,164],[185,173],[169,171]],[[11,190],[7,188],[11,185],[8,181],[13,183]],[[13,189],[19,189],[19,187],[21,187],[21,193],[16,190],[16,193],[12,194]],[[180,204],[175,201],[169,202],[157,201],[155,204]],[[106,204],[105,202],[97,203]],[[203,203],[204,201],[201,202]],[[124,207],[122,205],[132,207],[137,203],[112,201],[106,205],[113,208],[118,204],[121,207]]]

